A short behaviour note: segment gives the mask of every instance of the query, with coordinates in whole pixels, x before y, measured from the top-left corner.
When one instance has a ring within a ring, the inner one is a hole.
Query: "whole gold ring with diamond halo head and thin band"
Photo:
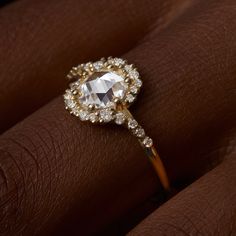
[[[64,94],[65,108],[81,121],[123,125],[138,138],[165,190],[170,189],[164,165],[153,140],[129,112],[142,87],[139,72],[121,58],[101,58],[73,67],[67,78],[69,89]]]

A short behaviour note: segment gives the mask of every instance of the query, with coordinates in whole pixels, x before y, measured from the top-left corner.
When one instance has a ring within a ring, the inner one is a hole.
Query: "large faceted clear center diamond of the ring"
[[[124,78],[113,72],[96,72],[80,86],[82,94],[79,102],[83,105],[95,105],[96,108],[109,107],[113,98],[122,99],[127,84]]]

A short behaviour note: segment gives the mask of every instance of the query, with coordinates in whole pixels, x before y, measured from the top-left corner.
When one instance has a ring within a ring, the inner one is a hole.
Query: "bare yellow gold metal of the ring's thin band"
[[[129,117],[130,119],[134,119],[133,115],[130,113],[127,107],[122,106],[120,109],[126,113],[127,117]],[[140,139],[139,139],[139,143],[141,144],[142,148],[145,151],[145,154],[147,155],[150,162],[152,163],[154,170],[156,171],[162,186],[164,187],[166,191],[170,191],[169,179],[167,177],[165,167],[163,165],[163,162],[161,161],[160,156],[157,153],[156,148],[154,147],[154,145],[152,145],[151,147],[145,147],[143,143],[140,141]]]

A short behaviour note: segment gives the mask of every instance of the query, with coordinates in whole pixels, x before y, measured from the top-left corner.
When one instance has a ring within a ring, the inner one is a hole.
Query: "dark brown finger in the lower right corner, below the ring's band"
[[[235,235],[235,144],[229,159],[152,213],[128,235]]]

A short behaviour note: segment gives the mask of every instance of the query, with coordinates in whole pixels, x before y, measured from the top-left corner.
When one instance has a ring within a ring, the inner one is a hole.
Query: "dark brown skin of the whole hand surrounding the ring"
[[[235,234],[235,1],[94,4],[18,1],[0,10],[7,32],[0,38],[1,235],[113,235],[116,222],[160,188],[128,131],[82,123],[58,96],[71,66],[108,55],[139,68],[144,87],[131,111],[158,141],[176,191],[223,162],[130,234],[214,235],[214,216],[224,222],[219,235]],[[207,202],[216,204],[214,214]],[[196,210],[205,212],[205,224]],[[179,212],[193,223],[186,226]]]

